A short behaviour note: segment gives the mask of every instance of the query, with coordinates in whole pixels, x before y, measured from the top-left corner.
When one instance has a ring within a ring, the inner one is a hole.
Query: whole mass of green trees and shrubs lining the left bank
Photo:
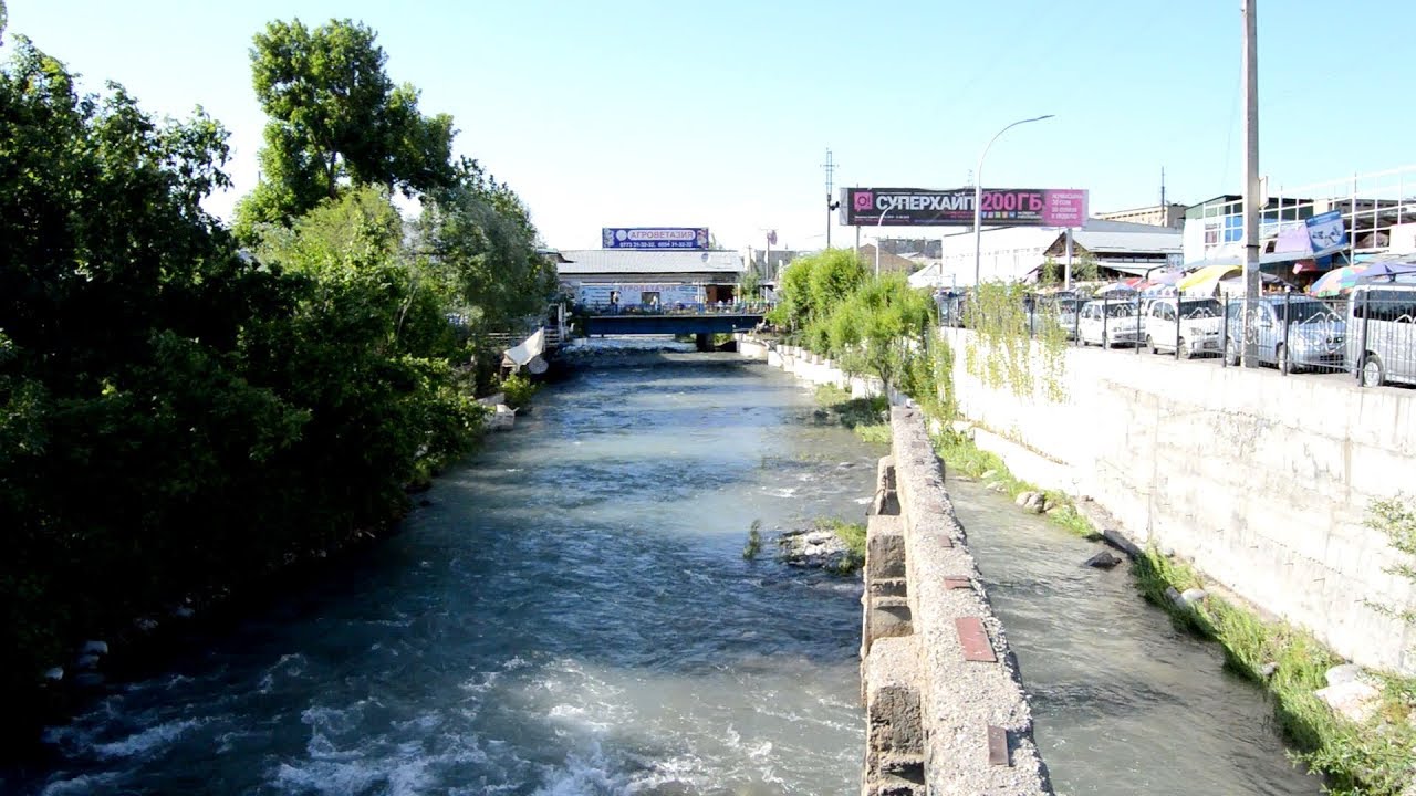
[[[272,23],[270,118],[228,228],[227,132],[81,95],[10,37],[0,69],[0,700],[41,673],[388,528],[479,438],[483,334],[544,307],[530,214],[368,28]],[[404,218],[394,194],[422,212]],[[136,625],[135,619],[142,618]],[[72,666],[67,667],[72,678]]]

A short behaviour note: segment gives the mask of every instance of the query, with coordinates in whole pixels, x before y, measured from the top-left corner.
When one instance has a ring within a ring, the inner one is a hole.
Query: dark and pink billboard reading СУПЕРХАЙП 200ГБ
[[[841,224],[871,227],[973,227],[973,188],[841,188]],[[983,188],[983,222],[990,227],[1080,227],[1086,191]]]

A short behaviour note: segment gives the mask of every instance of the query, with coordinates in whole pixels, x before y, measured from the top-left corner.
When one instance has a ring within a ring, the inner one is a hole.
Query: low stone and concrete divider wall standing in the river
[[[1003,626],[919,409],[892,409],[867,531],[861,793],[1051,793]]]

